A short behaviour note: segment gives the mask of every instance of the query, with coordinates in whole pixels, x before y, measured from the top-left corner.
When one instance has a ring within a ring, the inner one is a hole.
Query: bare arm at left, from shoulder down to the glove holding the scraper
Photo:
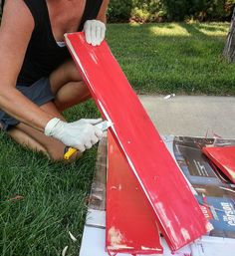
[[[18,90],[16,81],[34,29],[34,19],[22,0],[5,3],[0,27],[0,109],[41,131],[54,118]]]

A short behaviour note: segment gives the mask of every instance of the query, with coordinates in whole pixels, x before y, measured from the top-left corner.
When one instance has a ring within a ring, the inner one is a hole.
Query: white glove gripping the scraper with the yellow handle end
[[[79,120],[65,123],[57,118],[50,120],[44,130],[47,136],[61,140],[65,145],[85,151],[97,143],[103,136],[103,130],[94,125],[102,120]]]

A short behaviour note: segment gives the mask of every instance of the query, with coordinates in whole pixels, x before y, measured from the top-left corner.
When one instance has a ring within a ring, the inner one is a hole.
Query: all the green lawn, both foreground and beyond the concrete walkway
[[[235,95],[235,66],[221,58],[228,27],[112,24],[107,39],[137,93]],[[65,116],[99,112],[90,101]],[[72,164],[55,163],[0,132],[0,153],[0,255],[55,256],[66,245],[67,256],[79,255],[96,147]]]

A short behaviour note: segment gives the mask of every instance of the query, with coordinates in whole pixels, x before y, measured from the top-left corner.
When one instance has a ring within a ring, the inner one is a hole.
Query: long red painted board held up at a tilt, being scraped
[[[117,145],[170,248],[177,250],[206,233],[207,220],[106,41],[93,47],[83,33],[65,37],[103,117],[114,124],[111,131]]]

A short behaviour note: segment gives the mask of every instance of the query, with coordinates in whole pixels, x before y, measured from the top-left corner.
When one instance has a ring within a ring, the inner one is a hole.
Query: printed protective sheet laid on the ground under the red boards
[[[165,142],[174,160],[179,164],[182,173],[190,180],[190,182],[188,182],[198,202],[201,203],[202,197],[200,194],[202,193],[204,194],[203,198],[206,198],[206,200],[209,199],[209,201],[207,200],[207,203],[210,204],[207,204],[209,208],[207,208],[206,211],[204,208],[203,212],[214,226],[214,229],[206,236],[202,236],[201,239],[197,239],[195,242],[184,246],[182,249],[174,252],[173,255],[233,256],[235,251],[235,225],[231,220],[235,219],[235,186],[233,184],[224,183],[224,180],[220,179],[220,177],[216,175],[216,172],[214,172],[215,170],[210,166],[208,162],[209,159],[201,152],[201,148],[205,146],[205,144],[214,144],[215,139],[163,135],[162,140]],[[104,180],[106,183],[107,175],[104,166],[107,166],[107,143],[105,141],[106,137],[102,139],[98,147],[97,171],[93,182],[93,184],[97,185],[94,188],[101,187],[101,180]],[[216,141],[220,146],[224,146],[224,144],[235,144],[235,139],[216,139]],[[202,174],[204,175],[202,176]],[[104,184],[104,182],[102,183]],[[91,192],[92,198],[94,198],[94,188],[92,188]],[[104,205],[106,198],[102,197],[101,199],[102,202],[99,204]],[[95,212],[91,212],[91,210],[94,208],[97,209],[97,202],[93,199],[90,202],[80,256],[109,256],[108,252],[105,251],[105,218],[101,221],[101,215],[105,213],[104,208],[101,208],[100,214],[99,210],[97,214],[95,214]],[[201,207],[205,206],[204,200],[202,202],[203,205],[201,204]],[[169,247],[162,237],[161,245],[163,247],[162,255],[172,256]],[[115,255],[116,253],[112,254]],[[158,256],[159,254],[153,255]],[[129,256],[129,254],[117,253],[117,256]],[[136,256],[143,255],[137,254]]]

